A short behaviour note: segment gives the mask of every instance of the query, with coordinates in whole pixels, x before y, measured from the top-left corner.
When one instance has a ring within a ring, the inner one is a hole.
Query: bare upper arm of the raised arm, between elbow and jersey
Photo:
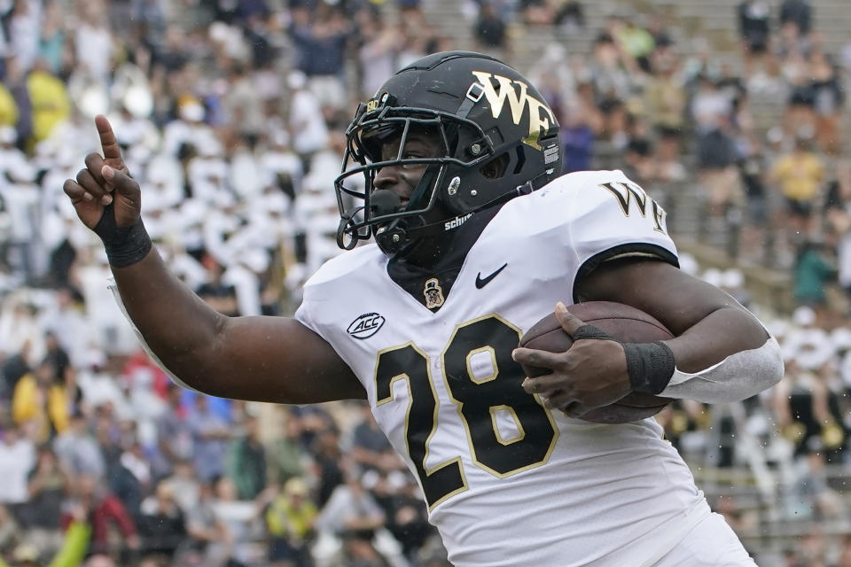
[[[324,338],[288,317],[227,319],[218,334],[215,393],[222,397],[307,404],[364,399],[366,392]]]

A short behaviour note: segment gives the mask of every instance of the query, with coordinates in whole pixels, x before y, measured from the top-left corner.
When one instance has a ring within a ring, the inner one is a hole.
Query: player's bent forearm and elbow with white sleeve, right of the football
[[[783,377],[777,340],[738,307],[714,311],[665,343],[676,369],[661,396],[707,403],[744,400]]]

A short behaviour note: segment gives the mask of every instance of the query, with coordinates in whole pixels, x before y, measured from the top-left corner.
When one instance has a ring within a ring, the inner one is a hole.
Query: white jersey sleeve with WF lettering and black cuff
[[[579,266],[575,283],[607,260],[657,258],[679,268],[665,210],[620,171],[601,172],[574,192],[567,230]]]

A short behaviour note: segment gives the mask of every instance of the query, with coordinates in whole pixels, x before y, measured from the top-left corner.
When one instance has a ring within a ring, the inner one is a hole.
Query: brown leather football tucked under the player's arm
[[[652,343],[655,340],[673,338],[671,331],[644,311],[611,301],[589,301],[568,306],[567,310],[583,322],[595,325],[614,338],[625,343]],[[556,314],[551,313],[520,338],[519,346],[535,348],[552,353],[566,351],[573,339],[561,328]],[[541,376],[549,369],[523,365],[528,377]],[[621,400],[602,408],[582,414],[580,419],[594,423],[629,423],[645,417],[655,416],[673,400],[650,393],[631,392]]]

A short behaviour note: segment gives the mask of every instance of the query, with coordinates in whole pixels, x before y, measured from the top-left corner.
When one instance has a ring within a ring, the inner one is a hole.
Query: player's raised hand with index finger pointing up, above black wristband
[[[77,216],[90,229],[98,226],[105,213],[113,214],[114,226],[129,227],[141,214],[139,184],[130,177],[109,120],[98,115],[95,126],[104,155],[87,155],[85,169],[77,173],[76,180],[66,180],[63,190],[71,199]]]

